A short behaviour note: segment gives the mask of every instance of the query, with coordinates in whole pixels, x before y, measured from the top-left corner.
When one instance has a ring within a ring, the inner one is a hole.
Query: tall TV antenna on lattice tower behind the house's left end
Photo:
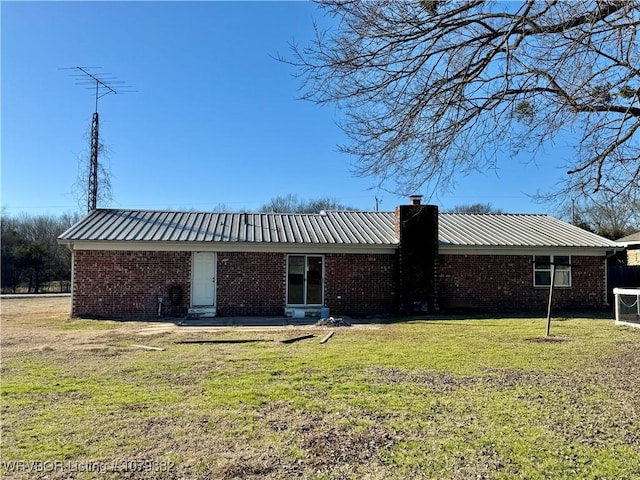
[[[91,119],[91,143],[89,155],[89,185],[87,189],[87,212],[97,208],[98,204],[98,152],[100,150],[98,116],[98,100],[109,94],[131,93],[123,81],[117,80],[110,73],[95,73],[100,67],[68,67],[60,70],[72,70],[70,76],[75,78],[76,85],[95,92],[95,110]]]

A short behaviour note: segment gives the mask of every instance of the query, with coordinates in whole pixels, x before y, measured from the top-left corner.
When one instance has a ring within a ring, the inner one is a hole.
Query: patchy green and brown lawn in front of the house
[[[640,478],[640,329],[613,320],[554,320],[553,341],[544,319],[410,321],[324,345],[314,327],[4,330],[4,478]]]

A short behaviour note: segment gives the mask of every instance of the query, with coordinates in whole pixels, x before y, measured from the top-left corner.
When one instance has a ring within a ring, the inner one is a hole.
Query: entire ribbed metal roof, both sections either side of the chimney
[[[221,242],[261,244],[398,244],[393,212],[328,211],[319,214],[212,213],[99,209],[60,237],[75,241]],[[548,215],[439,215],[443,247],[618,247]]]

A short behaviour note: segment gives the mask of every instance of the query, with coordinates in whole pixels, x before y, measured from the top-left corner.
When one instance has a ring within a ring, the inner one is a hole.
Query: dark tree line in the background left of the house
[[[80,218],[79,214],[3,214],[2,292],[69,291],[71,252],[58,245],[57,238]]]

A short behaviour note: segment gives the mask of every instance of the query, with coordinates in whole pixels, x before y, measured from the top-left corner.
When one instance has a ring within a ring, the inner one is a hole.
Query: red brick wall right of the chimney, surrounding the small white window
[[[549,289],[533,286],[533,257],[440,255],[443,311],[471,313],[546,311]],[[553,308],[602,308],[603,257],[571,257],[572,286],[554,290]]]

